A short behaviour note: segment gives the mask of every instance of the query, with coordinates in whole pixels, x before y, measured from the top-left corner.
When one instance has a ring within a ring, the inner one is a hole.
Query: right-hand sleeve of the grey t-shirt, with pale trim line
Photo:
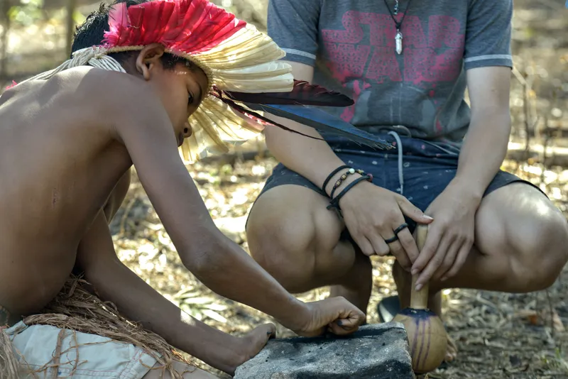
[[[513,67],[510,50],[513,0],[470,0],[464,67]]]

